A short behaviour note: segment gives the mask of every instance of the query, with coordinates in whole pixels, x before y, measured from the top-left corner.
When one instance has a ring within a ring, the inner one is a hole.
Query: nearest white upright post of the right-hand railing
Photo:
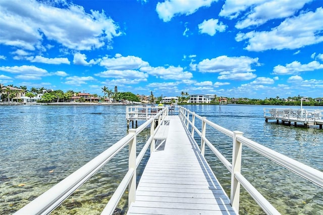
[[[242,154],[242,144],[239,141],[237,141],[238,135],[243,135],[243,133],[240,131],[233,132],[231,193],[230,193],[230,204],[237,212],[239,211],[240,182],[236,179],[235,173],[241,172],[241,154]]]

